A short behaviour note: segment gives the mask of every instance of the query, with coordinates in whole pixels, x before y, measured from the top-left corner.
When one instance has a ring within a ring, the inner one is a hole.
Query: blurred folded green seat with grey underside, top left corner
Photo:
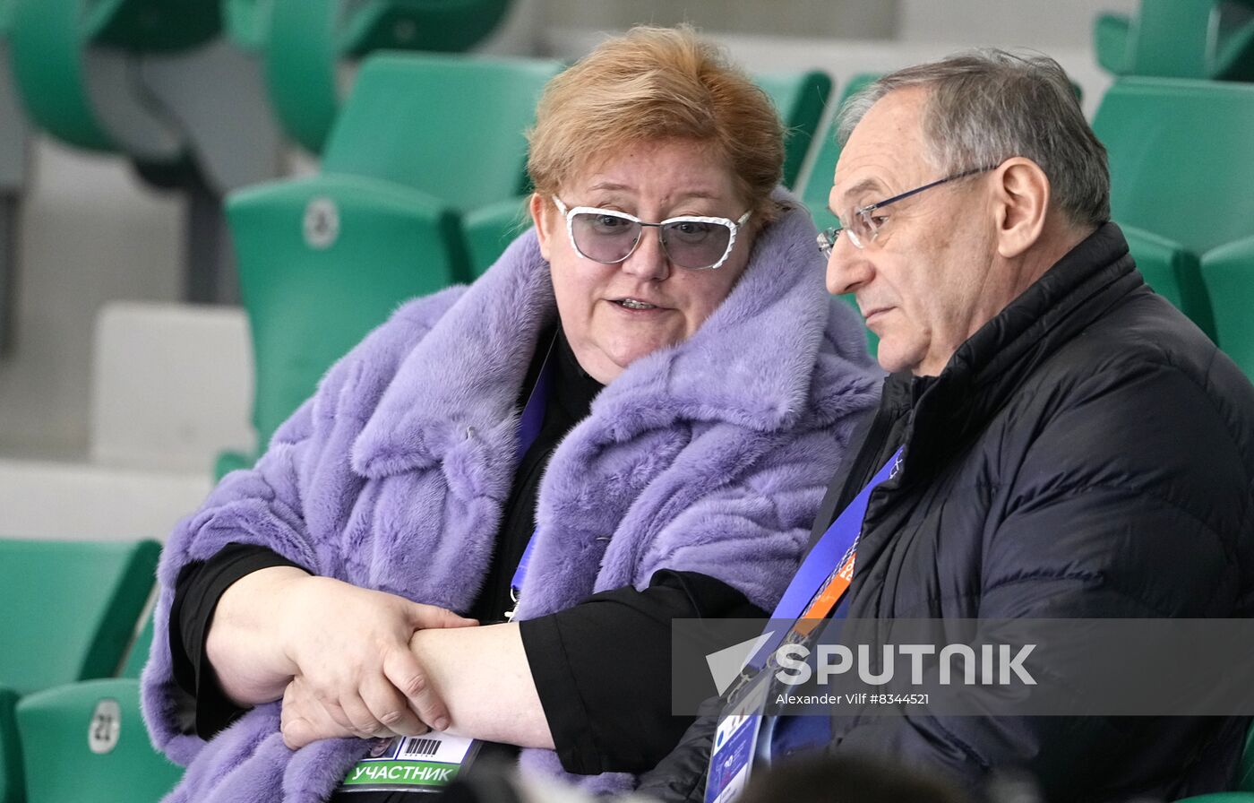
[[[184,297],[234,301],[221,198],[282,164],[260,59],[223,41],[223,0],[8,3],[10,63],[30,120],[188,196]]]

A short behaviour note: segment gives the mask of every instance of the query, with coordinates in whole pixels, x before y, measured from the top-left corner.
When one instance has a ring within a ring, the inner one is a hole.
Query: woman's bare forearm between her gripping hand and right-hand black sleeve
[[[410,649],[448,706],[449,733],[553,749],[518,625],[421,630]]]

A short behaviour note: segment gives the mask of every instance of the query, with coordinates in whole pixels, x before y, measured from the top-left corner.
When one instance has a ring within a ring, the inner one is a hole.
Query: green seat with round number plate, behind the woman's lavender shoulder
[[[520,203],[523,130],[559,68],[522,59],[371,56],[319,176],[228,198],[252,329],[260,444],[399,304],[473,277],[461,216]],[[251,462],[227,455],[217,468]]]

